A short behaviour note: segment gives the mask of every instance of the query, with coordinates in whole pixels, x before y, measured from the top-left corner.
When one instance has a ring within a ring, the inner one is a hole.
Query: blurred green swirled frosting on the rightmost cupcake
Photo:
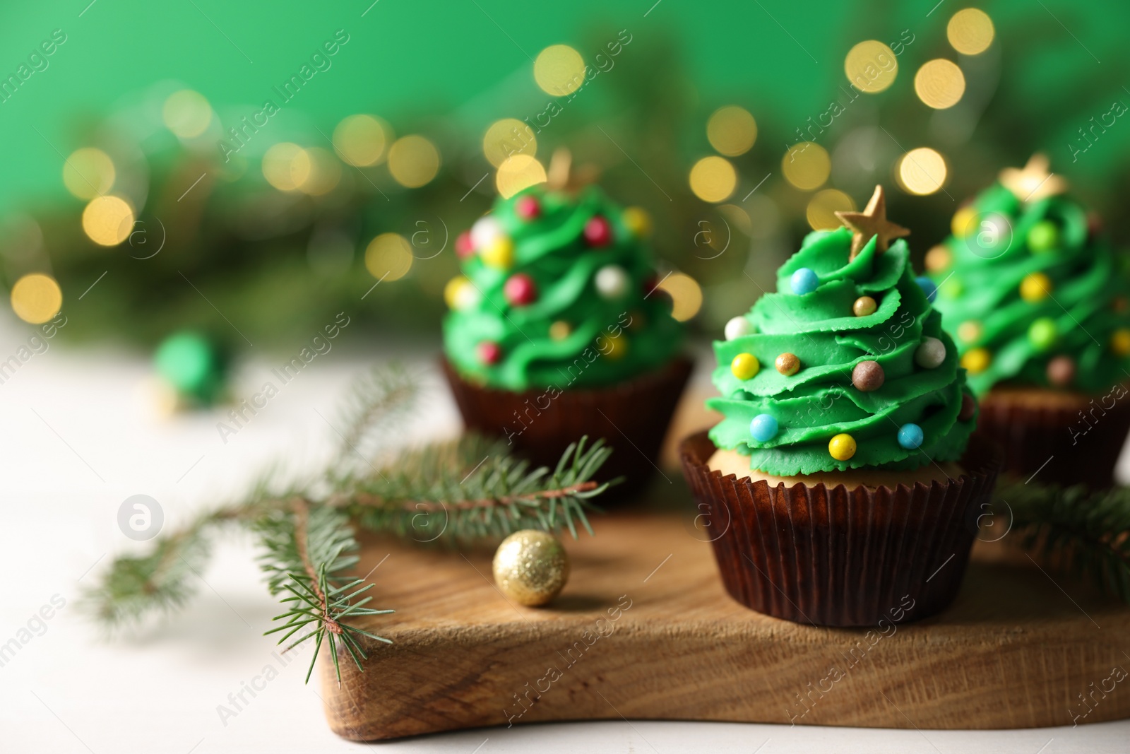
[[[1078,202],[1024,201],[998,183],[953,227],[927,266],[974,392],[1002,382],[1099,392],[1127,380],[1130,283]]]

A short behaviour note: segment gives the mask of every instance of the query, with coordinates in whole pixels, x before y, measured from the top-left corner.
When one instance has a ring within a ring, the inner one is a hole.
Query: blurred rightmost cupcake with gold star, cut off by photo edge
[[[1005,468],[1101,487],[1130,430],[1130,281],[1066,190],[1042,155],[1002,171],[927,267]]]

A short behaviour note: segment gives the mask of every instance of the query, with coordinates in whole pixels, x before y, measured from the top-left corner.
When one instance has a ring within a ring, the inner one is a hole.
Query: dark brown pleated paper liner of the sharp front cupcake
[[[966,471],[945,484],[786,488],[712,471],[714,450],[703,432],[680,456],[730,596],[796,623],[880,631],[954,600],[1000,465],[974,437]]]

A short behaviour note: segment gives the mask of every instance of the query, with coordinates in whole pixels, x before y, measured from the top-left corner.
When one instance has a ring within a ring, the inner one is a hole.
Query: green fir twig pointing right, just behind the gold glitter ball
[[[609,486],[592,476],[612,451],[599,440],[586,449],[586,441],[571,444],[550,473],[471,435],[407,451],[373,477],[341,479],[328,502],[366,529],[423,543],[497,539],[530,528],[567,528],[576,538],[577,522],[591,535],[584,511],[597,510],[590,501]]]

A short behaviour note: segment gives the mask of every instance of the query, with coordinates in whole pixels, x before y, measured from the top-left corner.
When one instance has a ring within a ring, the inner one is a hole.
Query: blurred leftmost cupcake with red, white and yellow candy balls
[[[603,477],[646,480],[690,372],[649,226],[596,187],[542,184],[459,236],[444,367],[469,428],[547,465],[582,435],[603,437],[616,449]]]

